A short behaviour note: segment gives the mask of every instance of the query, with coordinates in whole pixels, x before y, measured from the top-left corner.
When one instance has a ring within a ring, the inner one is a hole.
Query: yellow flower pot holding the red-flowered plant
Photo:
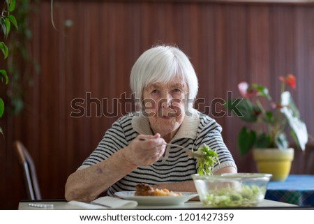
[[[271,181],[285,181],[290,174],[294,149],[253,149],[257,170],[273,174]]]

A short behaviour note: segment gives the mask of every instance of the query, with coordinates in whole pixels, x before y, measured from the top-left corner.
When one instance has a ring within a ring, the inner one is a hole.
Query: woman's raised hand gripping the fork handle
[[[142,139],[142,140],[141,140]],[[143,139],[145,139],[143,141]],[[124,159],[136,166],[151,165],[165,153],[166,142],[160,134],[138,135],[124,149]]]

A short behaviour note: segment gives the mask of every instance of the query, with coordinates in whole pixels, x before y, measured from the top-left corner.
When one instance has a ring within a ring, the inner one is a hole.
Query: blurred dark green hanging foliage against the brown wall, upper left
[[[19,29],[10,34],[8,48],[10,60],[7,61],[10,84],[8,84],[8,105],[6,110],[13,115],[19,114],[24,108],[24,98],[27,96],[26,87],[33,85],[33,76],[38,74],[40,66],[33,59],[29,49],[33,33],[29,29],[30,13],[36,13],[37,1],[20,0],[15,10]]]

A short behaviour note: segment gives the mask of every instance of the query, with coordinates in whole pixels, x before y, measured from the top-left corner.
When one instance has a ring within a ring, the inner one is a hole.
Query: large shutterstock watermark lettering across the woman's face
[[[188,110],[188,105],[193,104],[196,110],[202,112],[202,114],[209,115],[210,117],[231,117],[232,113],[241,115],[241,112],[238,109],[239,103],[241,103],[243,98],[232,98],[232,92],[228,91],[226,100],[223,98],[214,98],[210,103],[206,101],[205,98],[197,98],[194,102],[193,100],[188,99],[186,96],[185,105],[186,116],[192,116]],[[126,93],[120,95],[119,98],[93,98],[91,92],[85,93],[85,98],[75,98],[71,101],[70,106],[72,111],[70,112],[70,117],[79,118],[79,117],[121,117],[130,112],[135,112],[135,116],[143,114],[144,116],[150,117],[155,116],[154,113],[146,113],[144,111],[137,111],[135,105],[140,105],[143,103],[139,98],[135,98],[135,94],[131,94],[129,97],[126,96]],[[166,102],[165,99],[162,99],[158,102],[152,99],[145,99],[145,105],[147,110],[156,108],[156,104],[167,103],[172,108],[172,112],[167,114],[174,116],[174,114],[181,113],[181,110],[176,103],[181,103],[178,99],[170,100]],[[111,110],[110,110],[111,108]],[[202,109],[201,109],[202,108]],[[157,114],[158,115],[158,114]]]

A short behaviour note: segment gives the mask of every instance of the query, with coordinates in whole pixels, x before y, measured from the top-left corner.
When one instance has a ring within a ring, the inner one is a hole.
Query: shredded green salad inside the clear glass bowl
[[[207,193],[203,202],[214,207],[249,207],[262,200],[265,191],[266,188],[255,185],[244,185],[241,190],[234,188],[216,189]]]

